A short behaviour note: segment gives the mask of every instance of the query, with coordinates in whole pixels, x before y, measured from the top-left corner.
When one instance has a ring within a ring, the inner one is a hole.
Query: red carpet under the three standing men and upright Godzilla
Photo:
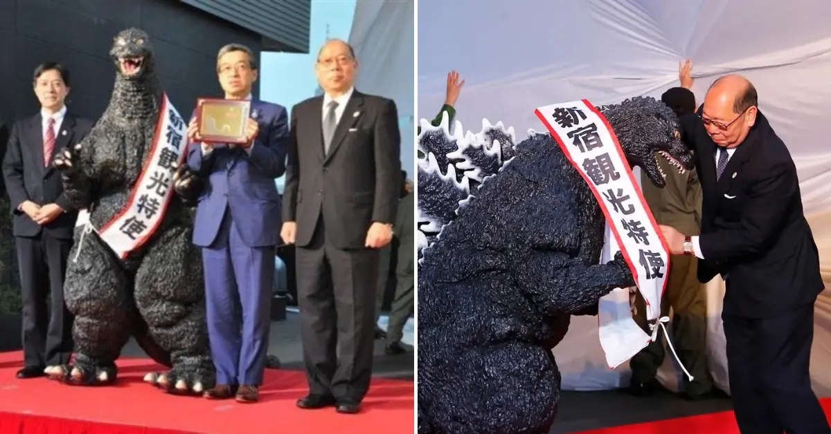
[[[178,397],[141,379],[158,367],[148,359],[119,360],[119,383],[76,388],[46,378],[18,380],[22,354],[0,353],[0,433],[37,434],[258,434],[277,432],[413,432],[413,383],[373,380],[363,411],[342,415],[334,408],[301,410],[305,375],[266,372],[260,402],[239,404]]]

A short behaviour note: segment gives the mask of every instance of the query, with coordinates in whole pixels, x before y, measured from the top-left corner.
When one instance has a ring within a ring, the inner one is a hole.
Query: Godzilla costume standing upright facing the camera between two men
[[[158,201],[142,201],[144,190],[136,192],[145,186],[145,171],[152,172],[151,178],[164,175],[154,178],[158,191],[173,188],[176,159],[153,165],[154,144],[160,139],[157,134],[165,134],[161,125],[168,113],[169,122],[181,118],[165,110],[168,104],[145,32],[120,32],[110,55],[117,70],[110,105],[89,136],[55,161],[66,197],[75,207],[89,210],[90,223],[76,230],[64,289],[66,307],[75,315],[76,356],[70,366],[47,372],[73,385],[111,384],[117,377],[116,358],[132,336],[156,362],[171,367],[167,373],[149,373],[146,380],[171,392],[199,393],[213,387],[214,365],[205,324],[202,259],[190,241],[189,207],[175,193],[165,208]],[[170,143],[180,144],[184,152],[186,138],[178,139]],[[141,204],[139,212],[160,213],[159,223],[135,250],[119,255],[101,228],[128,212],[134,197]]]

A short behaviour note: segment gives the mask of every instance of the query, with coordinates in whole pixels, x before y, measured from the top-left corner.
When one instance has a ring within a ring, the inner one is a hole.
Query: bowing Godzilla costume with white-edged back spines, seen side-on
[[[598,109],[656,186],[659,156],[692,168],[661,101]],[[605,217],[550,134],[514,145],[501,124],[456,127],[424,123],[419,136],[419,432],[546,433],[560,389],[551,349],[570,316],[597,315],[635,280],[619,252],[599,264]]]

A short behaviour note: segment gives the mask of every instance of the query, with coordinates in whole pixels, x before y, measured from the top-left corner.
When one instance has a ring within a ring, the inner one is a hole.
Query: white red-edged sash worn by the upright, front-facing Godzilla
[[[186,144],[187,124],[163,94],[153,147],[139,182],[125,207],[97,231],[121,259],[144,245],[165,217],[174,194],[173,174],[184,161]]]

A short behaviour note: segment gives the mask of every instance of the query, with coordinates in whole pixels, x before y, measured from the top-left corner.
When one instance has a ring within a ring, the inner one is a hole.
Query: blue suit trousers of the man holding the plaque
[[[217,240],[202,249],[211,357],[217,383],[263,383],[274,247],[249,247],[226,210]]]

